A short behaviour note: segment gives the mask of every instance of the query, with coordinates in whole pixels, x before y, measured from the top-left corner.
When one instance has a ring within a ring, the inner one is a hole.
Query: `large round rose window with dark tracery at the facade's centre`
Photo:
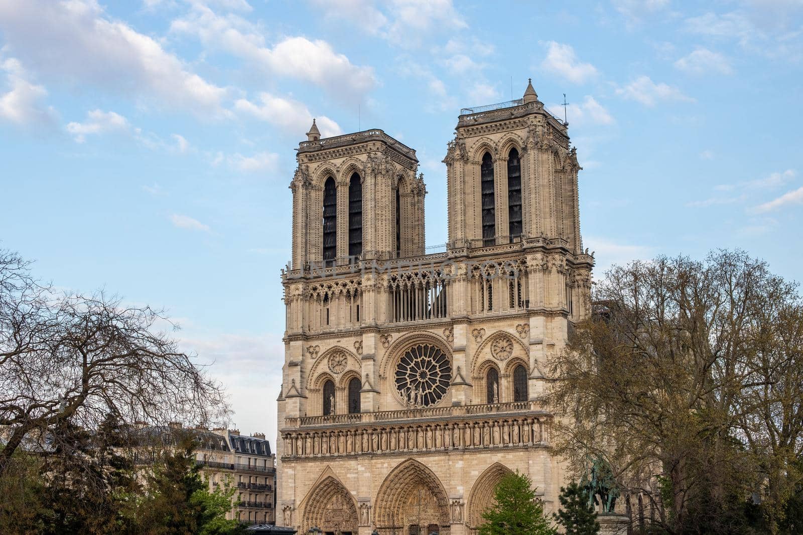
[[[438,403],[450,383],[448,357],[430,344],[410,347],[396,365],[396,388],[409,406],[429,407]]]

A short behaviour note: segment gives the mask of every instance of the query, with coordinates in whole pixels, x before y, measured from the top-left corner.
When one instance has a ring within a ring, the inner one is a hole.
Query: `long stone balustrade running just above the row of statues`
[[[306,427],[521,412],[539,415],[548,414],[548,412],[544,411],[540,401],[513,401],[508,403],[483,403],[479,405],[457,405],[450,407],[405,408],[397,411],[361,412],[359,414],[304,416],[303,418],[286,418],[284,422],[287,427]]]

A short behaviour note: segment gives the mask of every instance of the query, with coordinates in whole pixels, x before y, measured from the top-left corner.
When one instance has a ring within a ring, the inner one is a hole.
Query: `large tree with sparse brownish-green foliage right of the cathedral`
[[[735,533],[728,522],[740,520],[722,511],[751,495],[772,504],[774,525],[801,481],[797,286],[719,251],[613,267],[593,301],[549,366],[558,451],[578,471],[589,454],[605,457],[630,490],[666,505],[664,529]]]

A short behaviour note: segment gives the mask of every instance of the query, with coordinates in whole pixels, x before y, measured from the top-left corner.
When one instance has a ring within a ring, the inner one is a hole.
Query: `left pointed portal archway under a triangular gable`
[[[304,505],[301,533],[316,526],[324,533],[357,535],[357,505],[340,481],[329,476],[310,492]]]

